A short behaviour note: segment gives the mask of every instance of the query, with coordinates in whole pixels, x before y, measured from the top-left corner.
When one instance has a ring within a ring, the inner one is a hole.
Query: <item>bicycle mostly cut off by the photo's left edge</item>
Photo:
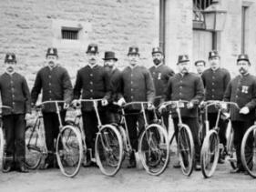
[[[2,121],[2,112],[3,109],[12,109],[10,106],[0,106],[1,108],[1,123],[0,123],[0,168],[1,170],[4,170],[4,165],[5,165],[5,133],[3,130],[3,121]]]

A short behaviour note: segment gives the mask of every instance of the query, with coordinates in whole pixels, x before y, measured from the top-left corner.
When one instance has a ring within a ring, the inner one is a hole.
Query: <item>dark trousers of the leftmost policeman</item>
[[[25,114],[3,116],[7,160],[23,163],[25,160]]]

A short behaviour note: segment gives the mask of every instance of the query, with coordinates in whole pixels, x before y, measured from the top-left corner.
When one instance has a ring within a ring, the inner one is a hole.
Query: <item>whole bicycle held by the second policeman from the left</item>
[[[80,162],[82,161],[82,141],[77,127],[63,125],[60,116],[60,106],[58,106],[58,104],[61,103],[64,103],[64,101],[45,101],[36,106],[36,122],[34,126],[27,126],[26,128],[26,167],[36,169],[39,167],[42,159],[46,159],[50,153],[46,147],[42,108],[48,104],[55,104],[59,122],[59,134],[57,136],[56,149],[61,148],[62,153],[60,154],[58,153],[60,150],[56,150],[54,155],[56,155],[58,167],[62,174],[67,177],[74,177],[77,175],[79,170],[78,165],[80,165]],[[65,136],[68,136],[69,139],[65,139]],[[61,141],[61,144],[59,141]],[[74,151],[72,151],[72,149]],[[77,153],[77,159],[71,159],[70,157],[74,157],[75,153]],[[72,154],[72,156],[70,154]],[[65,161],[65,164],[63,162],[60,164],[61,160]]]

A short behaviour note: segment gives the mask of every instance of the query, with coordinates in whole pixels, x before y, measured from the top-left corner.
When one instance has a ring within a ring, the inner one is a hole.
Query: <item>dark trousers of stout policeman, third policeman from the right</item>
[[[178,134],[179,134],[179,118],[173,118],[173,124],[175,129],[175,137],[178,141]],[[197,162],[200,162],[200,139],[199,139],[199,120],[197,117],[182,117],[182,123],[189,126],[191,134],[193,136],[194,145],[195,145],[195,158]]]

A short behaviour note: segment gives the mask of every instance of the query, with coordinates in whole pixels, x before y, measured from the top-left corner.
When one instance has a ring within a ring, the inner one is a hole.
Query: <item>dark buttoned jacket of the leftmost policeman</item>
[[[0,76],[0,91],[3,106],[3,115],[31,113],[31,97],[26,78],[18,73]]]

